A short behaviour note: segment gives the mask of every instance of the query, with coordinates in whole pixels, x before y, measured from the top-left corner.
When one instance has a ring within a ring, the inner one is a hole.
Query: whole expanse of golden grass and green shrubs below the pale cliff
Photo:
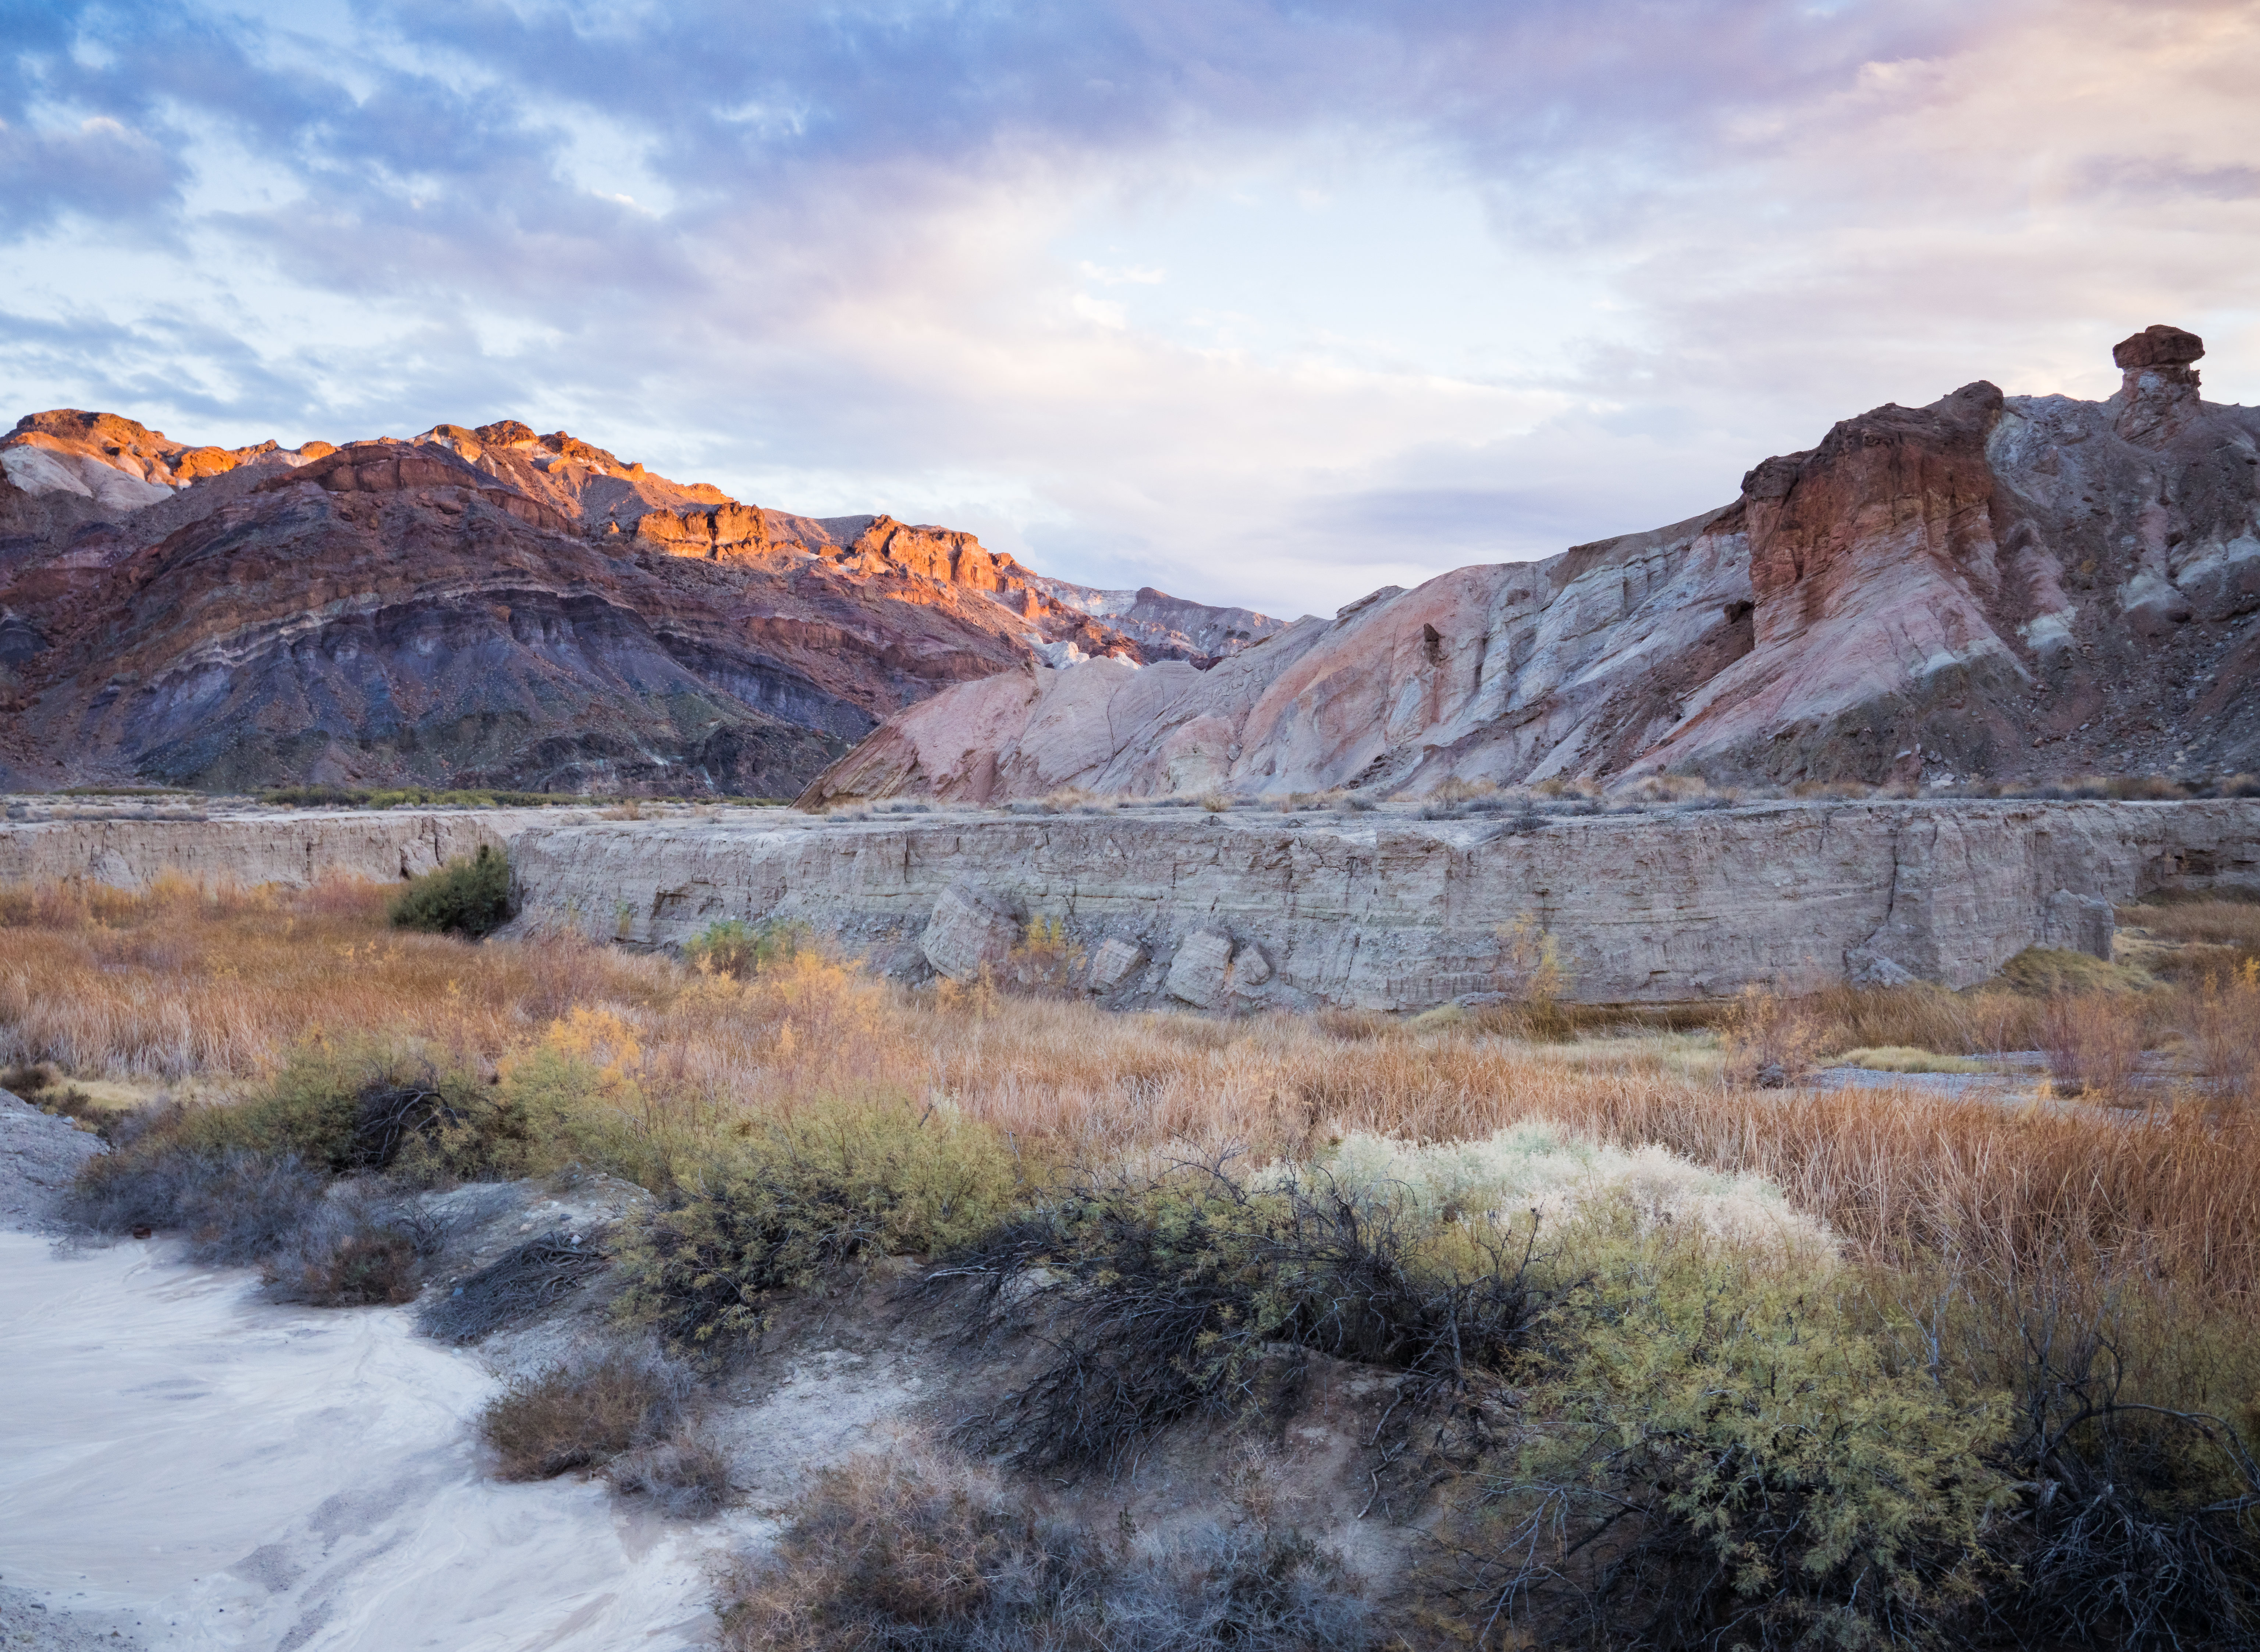
[[[954,1302],[1012,1381],[922,1467],[814,1485],[809,1564],[723,1589],[739,1645],[2260,1641],[2260,1123],[2210,1078],[2249,1076],[2260,972],[1530,1042],[470,945],[386,897],[0,890],[0,1060],[190,1094],[113,1128],[81,1211],[321,1299],[414,1290],[414,1186],[581,1166],[655,1193],[621,1311],[701,1363],[859,1279]],[[2081,1103],[1736,1080],[2109,1017],[2152,1071]],[[1275,1433],[1329,1360],[1397,1397],[1403,1575],[1254,1516],[1044,1525],[1031,1471]],[[574,1458],[538,1388],[524,1460]],[[615,1410],[585,1462],[667,1444]]]

